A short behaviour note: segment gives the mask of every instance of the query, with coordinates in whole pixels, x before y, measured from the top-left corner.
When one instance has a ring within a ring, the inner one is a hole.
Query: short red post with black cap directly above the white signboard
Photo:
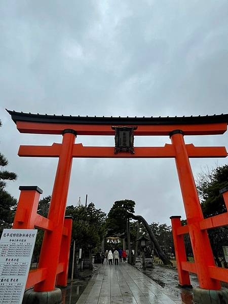
[[[13,229],[33,229],[42,189],[37,186],[20,186],[21,191]]]

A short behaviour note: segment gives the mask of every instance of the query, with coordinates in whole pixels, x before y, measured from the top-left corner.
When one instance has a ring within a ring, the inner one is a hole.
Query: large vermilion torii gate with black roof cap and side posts
[[[185,144],[185,135],[215,135],[227,130],[228,115],[167,118],[113,118],[35,115],[9,111],[21,133],[59,134],[62,143],[52,146],[20,146],[21,157],[58,157],[48,218],[36,214],[39,189],[21,187],[21,196],[13,228],[40,227],[45,230],[39,268],[30,272],[27,287],[35,291],[51,291],[57,284],[66,285],[67,254],[70,244],[70,220],[65,219],[65,207],[72,166],[72,158],[175,158],[187,225],[180,225],[179,217],[172,217],[173,235],[180,285],[190,285],[188,272],[198,275],[200,287],[219,290],[220,280],[228,282],[228,270],[215,266],[207,229],[227,225],[228,214],[204,219],[189,158],[226,157],[225,147],[195,147]],[[135,147],[134,154],[114,153],[113,147],[75,144],[77,135],[115,135],[112,126],[137,127],[136,136],[170,136],[172,144],[163,147]],[[28,191],[28,193],[27,193]],[[26,194],[27,193],[27,194]],[[224,194],[227,202],[227,192]],[[228,209],[228,208],[227,208]],[[28,214],[30,216],[28,217]],[[68,228],[67,228],[68,226]],[[183,234],[189,233],[195,263],[186,260]],[[61,245],[62,244],[62,245]]]

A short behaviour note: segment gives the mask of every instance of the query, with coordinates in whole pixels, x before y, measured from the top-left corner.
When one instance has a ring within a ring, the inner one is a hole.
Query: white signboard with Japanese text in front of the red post
[[[0,303],[21,304],[37,230],[4,229],[0,240]]]

